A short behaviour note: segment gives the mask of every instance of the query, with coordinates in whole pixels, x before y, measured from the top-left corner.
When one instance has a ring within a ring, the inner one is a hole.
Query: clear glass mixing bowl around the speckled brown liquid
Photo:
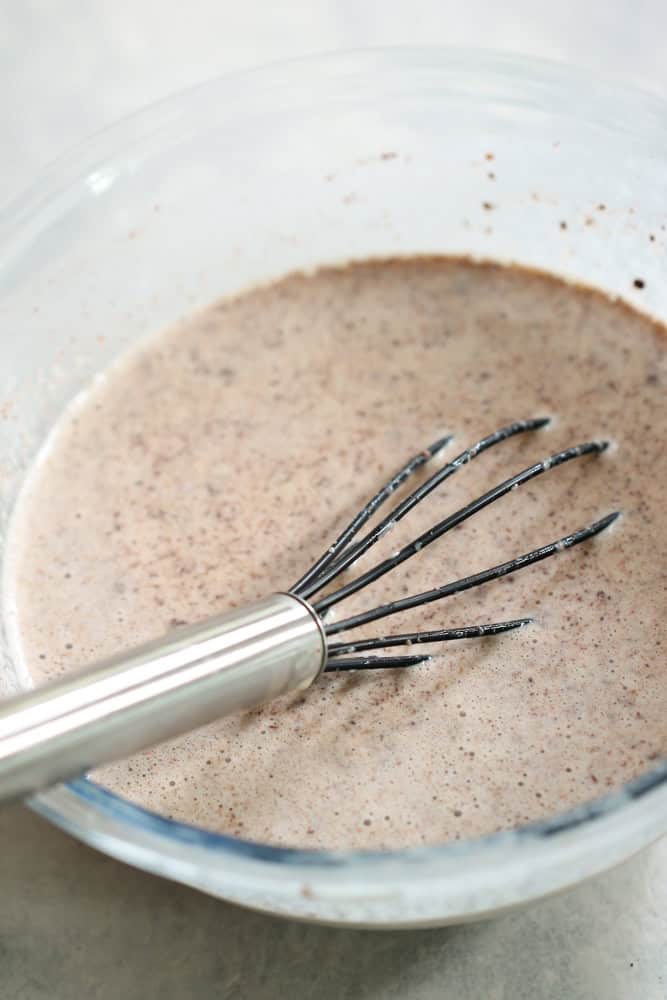
[[[9,516],[95,373],[221,295],[373,256],[515,261],[667,320],[666,123],[659,99],[546,62],[368,51],[215,80],[56,163],[0,217],[2,690],[29,684]],[[546,822],[386,853],[219,836],[85,778],[30,804],[108,854],[245,906],[435,925],[525,904],[649,844],[667,831],[667,761]]]

